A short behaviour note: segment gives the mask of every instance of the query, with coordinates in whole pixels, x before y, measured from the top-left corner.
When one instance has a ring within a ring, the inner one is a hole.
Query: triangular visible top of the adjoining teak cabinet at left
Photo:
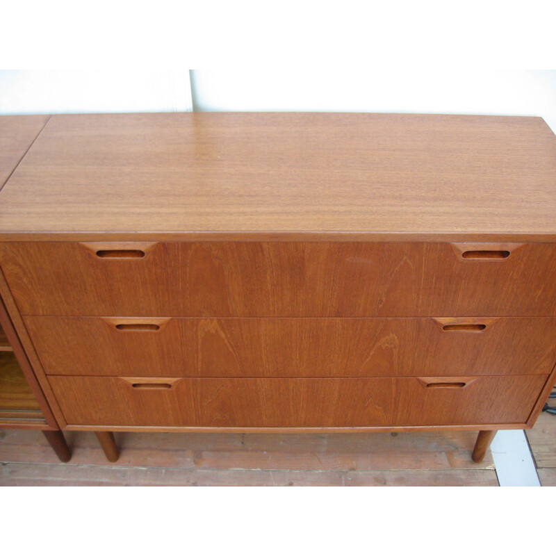
[[[0,190],[49,117],[47,115],[0,116]]]

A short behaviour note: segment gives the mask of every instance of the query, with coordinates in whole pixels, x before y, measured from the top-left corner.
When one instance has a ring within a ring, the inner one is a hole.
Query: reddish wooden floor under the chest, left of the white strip
[[[61,464],[40,432],[0,430],[0,484],[498,485],[490,452],[471,461],[475,432],[119,433],[115,464],[92,432],[66,436],[73,457]]]

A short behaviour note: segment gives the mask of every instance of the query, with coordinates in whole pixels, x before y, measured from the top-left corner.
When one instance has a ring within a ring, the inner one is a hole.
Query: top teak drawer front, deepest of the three
[[[44,316],[555,316],[556,244],[0,243]]]

